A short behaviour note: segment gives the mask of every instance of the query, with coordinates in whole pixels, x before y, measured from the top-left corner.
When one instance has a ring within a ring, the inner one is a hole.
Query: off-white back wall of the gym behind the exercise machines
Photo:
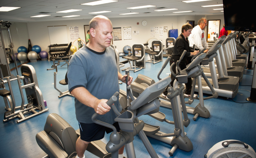
[[[113,41],[116,44],[118,51],[122,51],[125,45],[132,46],[136,43],[147,43],[150,38],[150,27],[168,27],[168,30],[178,29],[178,35],[181,33],[181,26],[187,22],[187,20],[195,20],[195,25],[197,21],[204,16],[161,16],[161,17],[136,17],[136,18],[111,18],[113,28],[121,27],[122,28],[122,40]],[[209,20],[212,19],[221,19],[221,25],[224,23],[223,15],[212,15],[207,16]],[[142,26],[141,22],[143,20],[147,21],[146,26]],[[42,50],[49,51],[48,45],[50,45],[49,33],[47,26],[67,26],[68,42],[73,42],[70,40],[69,27],[78,26],[79,36],[82,40],[85,41],[84,35],[84,25],[88,25],[90,20],[63,20],[63,21],[46,21],[46,22],[29,22],[28,34],[31,40],[32,45],[39,45]],[[137,25],[139,22],[139,25]],[[140,31],[140,35],[132,35],[132,40],[124,40],[123,27],[132,27],[132,31]],[[159,37],[159,34],[156,34],[154,38],[165,41],[168,37],[168,32],[164,32],[162,38]],[[164,43],[164,42],[163,42]],[[61,44],[61,43],[58,43]],[[74,45],[78,45],[77,42]]]

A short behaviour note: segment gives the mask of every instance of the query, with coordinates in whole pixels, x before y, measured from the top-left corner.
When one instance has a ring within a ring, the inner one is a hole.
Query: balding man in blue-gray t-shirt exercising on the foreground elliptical
[[[111,21],[102,15],[90,21],[90,42],[79,49],[68,66],[68,90],[75,97],[76,119],[80,137],[76,141],[76,158],[84,158],[84,152],[91,141],[100,140],[105,131],[111,129],[92,122],[92,115],[100,114],[97,120],[107,122],[120,130],[115,122],[116,114],[106,104],[119,91],[118,80],[125,83],[127,75],[117,71],[115,52],[110,47],[113,28]],[[132,83],[130,76],[128,85]],[[117,97],[118,98],[118,97]],[[115,106],[122,110],[119,101]],[[112,130],[113,131],[113,130]],[[124,157],[124,146],[119,149],[119,158]]]

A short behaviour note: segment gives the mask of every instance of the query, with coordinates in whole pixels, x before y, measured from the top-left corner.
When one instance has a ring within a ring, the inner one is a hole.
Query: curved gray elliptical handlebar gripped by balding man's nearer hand
[[[114,104],[116,101],[117,101],[117,96],[119,95],[118,92],[116,92],[106,103],[108,104],[108,106],[111,106],[112,104]],[[112,108],[115,107],[115,106],[111,106]],[[113,108],[114,112],[115,112],[115,108]],[[117,109],[116,109],[117,110]],[[116,112],[115,112],[116,113]],[[120,114],[120,113],[119,113]],[[116,131],[116,127],[111,125],[111,124],[108,124],[106,122],[102,122],[102,121],[99,121],[99,120],[96,120],[96,117],[98,116],[99,114],[98,113],[95,113],[92,115],[92,122],[96,123],[96,124],[99,124],[99,125],[102,125],[102,126],[105,126],[105,127],[108,127],[108,128],[111,128],[114,132],[114,134],[117,133]]]

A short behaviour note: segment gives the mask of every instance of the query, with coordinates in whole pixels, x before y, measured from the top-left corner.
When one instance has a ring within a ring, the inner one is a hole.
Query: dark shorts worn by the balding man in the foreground
[[[107,133],[110,133],[113,131],[108,127],[104,127],[96,123],[80,123],[80,122],[78,123],[79,123],[79,129],[80,129],[80,138],[86,142],[100,140],[104,138],[105,131]],[[118,122],[115,122],[113,126],[116,127],[117,132],[120,131]]]

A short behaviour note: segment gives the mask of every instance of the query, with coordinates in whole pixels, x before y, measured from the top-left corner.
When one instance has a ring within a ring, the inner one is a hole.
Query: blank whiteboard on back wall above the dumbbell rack
[[[48,27],[51,44],[68,43],[67,26]]]

